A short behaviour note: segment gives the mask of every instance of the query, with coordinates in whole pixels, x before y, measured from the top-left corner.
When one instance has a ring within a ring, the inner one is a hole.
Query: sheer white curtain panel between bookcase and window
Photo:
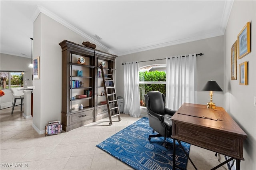
[[[124,63],[124,113],[140,117],[138,62]]]

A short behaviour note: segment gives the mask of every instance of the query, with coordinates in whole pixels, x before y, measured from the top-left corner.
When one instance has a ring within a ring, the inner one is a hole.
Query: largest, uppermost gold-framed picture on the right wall
[[[247,22],[244,28],[237,36],[238,59],[251,52],[250,22]]]

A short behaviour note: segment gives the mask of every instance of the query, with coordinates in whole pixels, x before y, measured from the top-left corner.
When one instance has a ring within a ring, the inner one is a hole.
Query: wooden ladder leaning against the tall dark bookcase
[[[102,67],[102,65],[100,65],[100,68],[101,68],[102,79],[103,79],[103,84],[104,84],[106,103],[108,106],[108,117],[109,117],[108,125],[112,125],[112,117],[118,116],[118,121],[121,121],[120,111],[119,111],[119,107],[118,107],[118,101],[117,101],[117,97],[116,97],[116,87],[115,87],[114,79],[113,79],[113,69],[110,67],[110,69],[109,69],[110,74],[109,74],[109,73],[104,73],[104,71],[106,72],[107,69],[104,69]],[[111,100],[109,100],[109,97]],[[111,108],[110,108],[110,104],[112,104]],[[116,109],[116,113],[114,115],[111,115],[111,111],[114,109]]]

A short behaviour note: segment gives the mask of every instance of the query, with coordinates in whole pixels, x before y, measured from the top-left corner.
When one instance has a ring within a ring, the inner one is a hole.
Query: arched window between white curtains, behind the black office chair
[[[139,69],[140,106],[145,107],[144,94],[160,91],[166,94],[166,65],[149,65]]]

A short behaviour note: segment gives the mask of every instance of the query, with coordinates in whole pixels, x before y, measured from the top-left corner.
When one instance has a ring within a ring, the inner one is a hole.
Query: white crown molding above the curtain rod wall
[[[127,54],[132,54],[132,53],[138,53],[141,51],[147,51],[147,50],[151,50],[151,49],[167,47],[167,46],[177,45],[177,44],[181,44],[181,43],[194,42],[197,40],[203,40],[206,38],[212,38],[212,37],[223,36],[223,35],[224,34],[222,34],[220,31],[212,32],[209,34],[194,36],[194,37],[190,37],[190,38],[184,38],[184,39],[180,39],[180,40],[174,40],[174,41],[170,41],[170,42],[153,42],[153,43],[151,43],[151,45],[144,45],[144,47],[139,47],[139,48],[131,49],[129,51],[124,51],[124,52],[117,51],[116,53],[118,56],[122,56],[122,55],[127,55]]]

